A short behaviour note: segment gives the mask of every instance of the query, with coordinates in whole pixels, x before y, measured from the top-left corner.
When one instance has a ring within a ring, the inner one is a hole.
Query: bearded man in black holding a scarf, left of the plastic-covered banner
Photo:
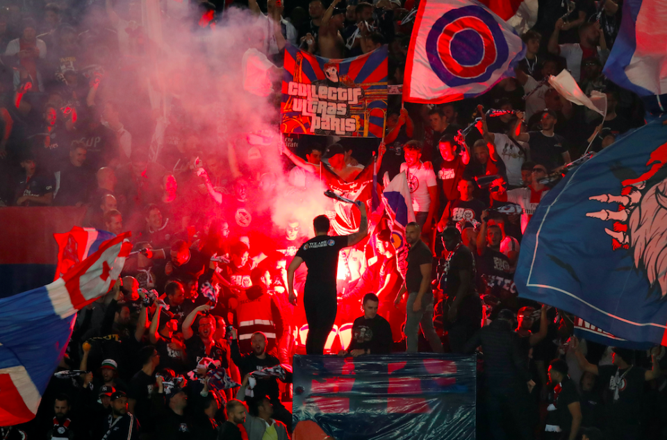
[[[267,339],[263,332],[255,332],[250,338],[252,350],[249,353],[242,354],[238,346],[238,332],[236,329],[231,330],[231,359],[238,366],[242,377],[245,378],[247,374],[253,371],[280,365],[277,357],[266,353],[266,343]],[[287,374],[286,382],[292,382],[292,373]],[[256,379],[252,396],[267,396],[273,405],[273,418],[285,423],[288,432],[292,432],[292,414],[279,399],[278,378],[272,376]],[[250,397],[249,391],[246,391],[246,398]]]

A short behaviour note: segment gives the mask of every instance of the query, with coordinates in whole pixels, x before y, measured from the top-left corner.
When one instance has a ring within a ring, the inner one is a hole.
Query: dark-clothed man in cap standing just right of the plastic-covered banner
[[[532,440],[532,426],[529,391],[535,386],[530,378],[527,362],[520,354],[518,335],[512,331],[514,314],[503,309],[496,319],[475,332],[466,342],[463,353],[474,353],[481,346],[484,352],[484,374],[486,375],[486,396],[488,425],[492,438],[507,439],[504,425],[516,426],[518,438]],[[511,421],[506,423],[504,414]]]

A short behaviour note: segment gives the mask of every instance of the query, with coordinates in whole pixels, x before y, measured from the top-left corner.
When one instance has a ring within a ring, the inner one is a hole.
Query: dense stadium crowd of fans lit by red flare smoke
[[[388,44],[393,85],[403,83],[417,6],[204,1],[179,15],[172,3],[160,3],[163,19],[195,28],[193,51],[205,32],[229,26],[230,8],[247,8],[256,32],[236,44],[252,46],[256,60],[281,67],[286,41],[327,58]],[[195,125],[179,92],[165,115],[151,108],[137,60],[156,55],[140,2],[0,5],[0,205],[83,207],[82,226],[130,230],[140,251],[79,313],[60,366],[74,373],[56,373],[38,417],[1,428],[3,439],[290,438],[292,357],[318,352],[306,346],[311,312],[301,298],[308,274],[326,269],[302,245],[327,235],[335,214],[322,212],[327,221],[313,229],[311,218],[274,223],[263,201],[275,196],[276,176],[262,172],[271,160],[263,152],[281,142],[251,133],[215,149],[201,139],[211,127]],[[280,147],[295,196],[319,191],[324,174],[353,181],[371,151],[380,176],[405,171],[411,189],[405,283],[386,221],[335,246],[338,304],[324,353],[477,351],[481,439],[667,439],[665,348],[578,340],[575,316],[518,298],[513,283],[522,234],[563,167],[643,124],[641,101],[602,74],[621,6],[540,1],[515,77],[444,105],[390,95],[381,144],[302,135]],[[245,58],[230,62],[256,73]],[[207,81],[222,80],[199,67],[179,75],[215,89]],[[562,69],[587,94],[607,94],[604,119],[545,81]],[[280,69],[262,71],[280,90]],[[248,93],[253,84],[244,81]],[[476,116],[463,142],[459,130]],[[290,267],[295,256],[307,271]]]

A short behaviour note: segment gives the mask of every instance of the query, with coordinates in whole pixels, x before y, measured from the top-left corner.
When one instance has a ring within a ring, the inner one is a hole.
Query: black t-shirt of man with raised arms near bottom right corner
[[[616,371],[618,371],[618,379]],[[646,370],[639,366],[632,366],[629,371],[628,369],[620,370],[614,365],[598,366],[598,378],[604,394],[607,423],[612,425],[639,424],[645,374]],[[614,392],[617,387],[618,400],[614,400]]]

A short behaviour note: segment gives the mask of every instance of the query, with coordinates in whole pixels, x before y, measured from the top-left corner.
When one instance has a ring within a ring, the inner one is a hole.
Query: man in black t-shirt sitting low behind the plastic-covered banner
[[[377,314],[380,300],[376,294],[363,296],[363,316],[352,324],[352,340],[347,350],[340,350],[339,356],[350,355],[388,355],[391,352],[393,337],[391,326],[382,316]]]

